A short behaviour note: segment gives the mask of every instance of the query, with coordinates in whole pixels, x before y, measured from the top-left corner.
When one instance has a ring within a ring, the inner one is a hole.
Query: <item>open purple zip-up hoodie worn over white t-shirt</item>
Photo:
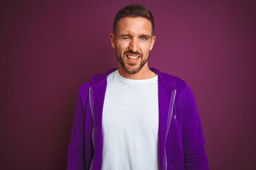
[[[80,86],[68,146],[68,170],[101,167],[102,110],[107,76],[114,70],[97,74]],[[159,169],[209,169],[191,89],[178,77],[151,70],[159,77]]]

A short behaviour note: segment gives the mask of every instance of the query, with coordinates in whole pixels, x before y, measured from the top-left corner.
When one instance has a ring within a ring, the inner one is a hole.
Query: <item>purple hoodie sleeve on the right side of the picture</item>
[[[183,81],[183,87],[182,144],[185,169],[209,169],[196,100],[185,81]]]

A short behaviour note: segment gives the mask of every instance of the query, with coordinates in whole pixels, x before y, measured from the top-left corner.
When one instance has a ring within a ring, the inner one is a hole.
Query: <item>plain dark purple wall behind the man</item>
[[[196,96],[210,169],[256,166],[254,1],[1,1],[0,169],[65,169],[78,88],[117,67],[114,14],[154,15],[149,65]]]

